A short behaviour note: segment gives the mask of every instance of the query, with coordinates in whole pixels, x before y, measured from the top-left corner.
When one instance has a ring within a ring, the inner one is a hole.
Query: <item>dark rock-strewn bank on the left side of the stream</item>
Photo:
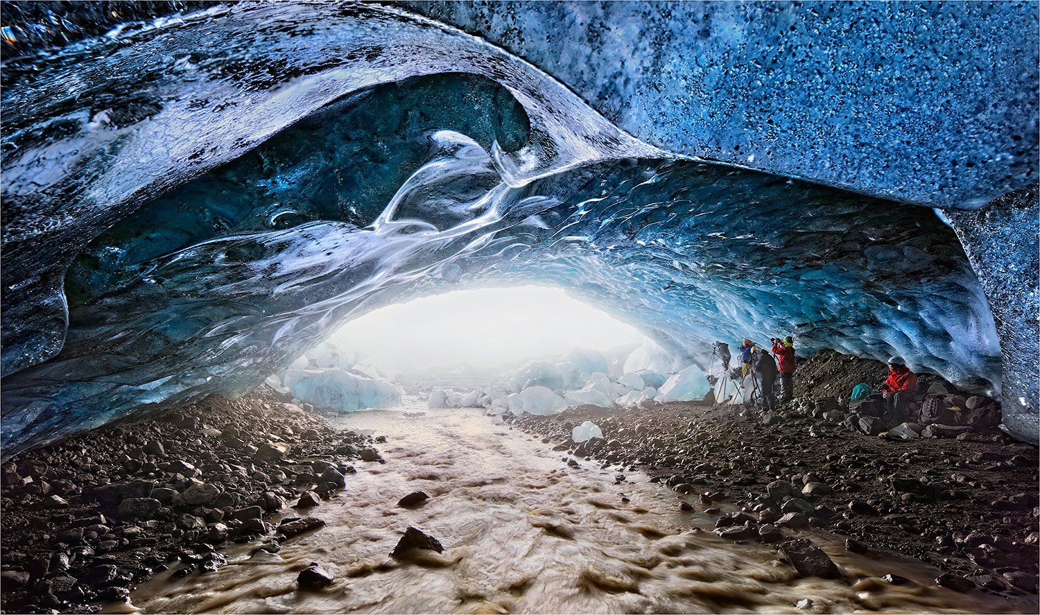
[[[261,387],[99,430],[2,466],[3,612],[92,612],[153,572],[215,570],[323,524],[304,513],[348,481],[373,442]]]

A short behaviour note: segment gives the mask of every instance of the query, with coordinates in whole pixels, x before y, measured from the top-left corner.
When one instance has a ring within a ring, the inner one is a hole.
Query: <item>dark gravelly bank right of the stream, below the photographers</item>
[[[957,439],[892,440],[796,408],[773,414],[769,426],[757,410],[742,416],[739,407],[694,403],[583,406],[511,421],[604,468],[645,471],[677,491],[682,510],[719,515],[722,536],[778,542],[778,528],[808,524],[848,537],[850,550],[937,566],[946,571],[937,582],[947,587],[1036,594],[1034,446],[992,428]],[[571,429],[584,420],[604,437],[575,444]]]

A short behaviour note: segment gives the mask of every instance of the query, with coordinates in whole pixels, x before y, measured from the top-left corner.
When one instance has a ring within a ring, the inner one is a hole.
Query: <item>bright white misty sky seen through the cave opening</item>
[[[519,286],[456,290],[369,312],[334,339],[387,371],[503,363],[564,354],[574,347],[606,351],[643,335],[560,288]]]

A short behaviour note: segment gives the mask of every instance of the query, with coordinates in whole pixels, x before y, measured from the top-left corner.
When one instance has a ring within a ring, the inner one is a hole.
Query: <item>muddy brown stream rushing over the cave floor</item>
[[[408,412],[412,416],[406,416]],[[422,416],[415,416],[424,412]],[[711,520],[678,510],[676,494],[639,473],[581,462],[476,409],[357,412],[336,427],[387,437],[386,464],[356,464],[347,489],[314,509],[328,527],[286,540],[276,556],[228,554],[216,572],[156,575],[127,612],[147,613],[825,613],[1037,612],[1017,601],[935,587],[939,571],[910,561],[854,556],[813,540],[843,579],[803,579],[774,548],[737,544],[694,527]],[[396,506],[422,490],[424,506]],[[623,499],[623,495],[627,502]],[[412,561],[389,556],[415,526],[443,543]],[[300,590],[298,571],[319,562],[336,581]],[[881,581],[895,573],[914,583]],[[809,609],[796,604],[812,600]],[[115,610],[115,609],[111,609]]]

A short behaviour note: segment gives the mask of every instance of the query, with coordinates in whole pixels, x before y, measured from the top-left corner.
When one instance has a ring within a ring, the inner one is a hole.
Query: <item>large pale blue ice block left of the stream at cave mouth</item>
[[[396,406],[405,393],[396,384],[336,367],[289,369],[283,382],[297,400],[315,408],[343,412]]]

